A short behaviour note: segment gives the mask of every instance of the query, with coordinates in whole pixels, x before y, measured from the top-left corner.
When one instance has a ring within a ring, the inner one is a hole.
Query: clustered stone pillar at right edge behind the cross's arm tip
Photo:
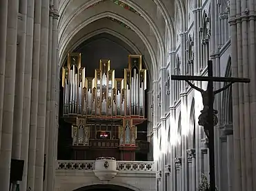
[[[256,189],[255,1],[230,1],[232,76],[250,77],[233,85],[234,190]]]

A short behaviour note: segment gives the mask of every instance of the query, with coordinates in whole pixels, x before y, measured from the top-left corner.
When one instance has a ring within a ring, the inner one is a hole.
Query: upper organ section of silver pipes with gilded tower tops
[[[110,60],[100,60],[94,78],[86,78],[81,54],[68,54],[62,86],[66,117],[145,117],[146,69],[142,69],[140,55],[129,56],[124,78],[115,78]]]

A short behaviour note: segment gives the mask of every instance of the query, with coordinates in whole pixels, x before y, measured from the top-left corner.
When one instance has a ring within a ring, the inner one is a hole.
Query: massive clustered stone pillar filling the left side
[[[54,190],[58,4],[0,1],[1,190]],[[10,184],[11,159],[24,167],[22,181]]]

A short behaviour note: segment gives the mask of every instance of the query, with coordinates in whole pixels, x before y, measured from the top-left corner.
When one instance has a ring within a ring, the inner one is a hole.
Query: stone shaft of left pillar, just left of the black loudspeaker
[[[3,4],[4,5],[4,4]],[[17,22],[18,1],[8,1],[8,24],[6,36],[6,68],[3,89],[3,117],[1,155],[0,155],[0,186],[1,190],[9,190],[10,161],[12,155],[12,128],[14,113],[15,69],[17,54]],[[1,29],[2,30],[2,29]],[[4,30],[4,28],[3,28]]]

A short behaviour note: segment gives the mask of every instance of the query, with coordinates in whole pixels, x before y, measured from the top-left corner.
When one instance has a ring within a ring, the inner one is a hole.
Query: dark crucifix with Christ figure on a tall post
[[[215,94],[220,93],[230,87],[235,82],[249,83],[249,78],[228,78],[228,77],[213,77],[213,61],[208,60],[208,76],[179,76],[172,75],[172,80],[185,80],[188,85],[201,93],[203,99],[204,109],[198,117],[198,124],[204,126],[204,132],[208,137],[209,148],[209,163],[210,163],[210,190],[215,191],[215,153],[214,153],[214,126],[217,125],[217,110],[213,109]],[[207,81],[207,89],[201,89],[193,85],[189,80]],[[226,86],[221,89],[213,91],[213,82],[228,82]]]

